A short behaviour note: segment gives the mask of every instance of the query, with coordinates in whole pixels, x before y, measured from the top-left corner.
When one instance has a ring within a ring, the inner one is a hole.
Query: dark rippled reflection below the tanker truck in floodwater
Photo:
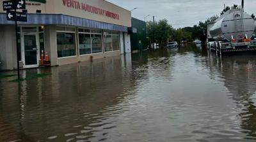
[[[255,57],[224,56],[217,68],[225,87],[230,91],[228,97],[239,108],[237,117],[241,119],[241,131],[246,134],[244,139],[255,139]]]

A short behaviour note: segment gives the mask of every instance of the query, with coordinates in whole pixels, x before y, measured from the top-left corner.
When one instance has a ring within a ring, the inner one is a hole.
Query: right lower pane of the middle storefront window
[[[92,34],[92,53],[102,52],[101,35]]]

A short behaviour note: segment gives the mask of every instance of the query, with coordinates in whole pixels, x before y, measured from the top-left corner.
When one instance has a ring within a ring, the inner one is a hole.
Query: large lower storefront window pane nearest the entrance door
[[[76,56],[75,33],[57,33],[58,58]]]

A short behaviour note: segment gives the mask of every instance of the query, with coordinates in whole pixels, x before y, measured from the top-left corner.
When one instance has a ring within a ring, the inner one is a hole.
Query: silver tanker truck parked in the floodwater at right
[[[256,51],[256,40],[251,40],[254,32],[252,17],[241,6],[232,8],[207,24],[207,48],[220,55],[225,52]]]

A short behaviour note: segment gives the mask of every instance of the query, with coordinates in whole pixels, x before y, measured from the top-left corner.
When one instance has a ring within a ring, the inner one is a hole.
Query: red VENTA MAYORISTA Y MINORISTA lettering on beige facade
[[[77,10],[83,10],[85,12],[91,12],[98,15],[103,15],[106,17],[110,17],[112,19],[119,19],[119,15],[116,13],[109,12],[107,10],[102,10],[101,8],[97,8],[95,6],[91,6],[89,4],[85,3],[79,3],[79,1],[75,0],[62,0],[64,6],[67,6],[69,8],[75,8]]]

